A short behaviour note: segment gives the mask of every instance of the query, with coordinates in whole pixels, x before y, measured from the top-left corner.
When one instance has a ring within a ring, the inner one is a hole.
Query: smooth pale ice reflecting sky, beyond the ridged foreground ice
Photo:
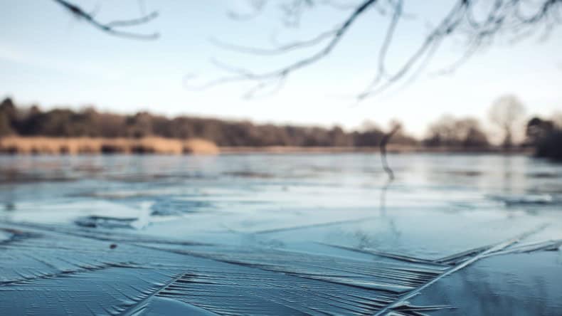
[[[397,179],[383,191],[378,158],[2,157],[1,216],[69,224],[95,216],[89,224],[107,228],[115,218],[117,227],[151,235],[257,234],[279,244],[368,246],[425,258],[541,223],[558,227],[557,165],[522,156],[401,154],[390,157]]]

